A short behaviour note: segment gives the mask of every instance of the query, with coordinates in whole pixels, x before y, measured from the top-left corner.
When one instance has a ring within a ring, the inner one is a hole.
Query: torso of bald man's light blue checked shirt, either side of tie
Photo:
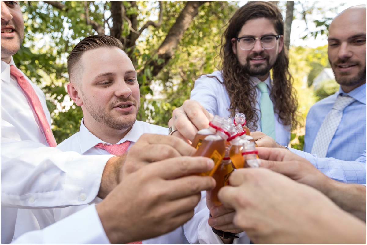
[[[366,152],[366,84],[344,93],[341,88],[333,95],[315,103],[306,118],[304,151],[310,153],[317,131],[331,110],[339,94],[347,94],[355,101],[345,107],[342,120],[327,150],[326,157],[354,161]]]

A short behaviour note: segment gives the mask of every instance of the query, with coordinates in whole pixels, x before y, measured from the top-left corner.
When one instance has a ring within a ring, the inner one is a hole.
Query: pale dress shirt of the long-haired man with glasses
[[[220,71],[215,71],[209,76],[218,77],[218,79],[223,82],[223,76]],[[250,77],[250,81],[257,85],[261,81],[257,77]],[[268,85],[268,92],[272,89],[272,81],[270,76],[264,81]],[[261,118],[260,112],[260,96],[261,92],[257,87],[257,98],[255,103],[255,109],[259,112],[259,118]],[[230,106],[230,99],[226,91],[225,85],[220,83],[214,77],[207,77],[205,75],[199,77],[195,81],[194,89],[191,91],[190,99],[198,101],[205,109],[207,109],[213,115],[219,115],[221,117],[229,117],[230,111],[228,110]],[[275,140],[282,146],[287,146],[289,144],[291,134],[290,126],[285,126],[279,122],[279,116],[274,113],[275,116]],[[260,121],[256,123],[257,131],[261,131]]]

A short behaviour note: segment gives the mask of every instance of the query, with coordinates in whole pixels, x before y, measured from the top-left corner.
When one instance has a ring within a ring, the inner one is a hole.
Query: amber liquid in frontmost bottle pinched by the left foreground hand
[[[226,152],[225,149],[225,139],[223,139],[219,135],[208,135],[200,147],[197,149],[194,154],[195,157],[209,157],[214,161],[214,168],[211,171],[207,171],[204,173],[200,173],[201,176],[213,176],[214,172],[219,167],[224,154]]]

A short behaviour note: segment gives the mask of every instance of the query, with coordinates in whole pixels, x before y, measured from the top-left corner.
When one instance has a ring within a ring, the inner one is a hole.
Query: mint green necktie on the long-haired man
[[[270,100],[268,85],[260,82],[256,85],[261,91],[260,111],[261,111],[261,131],[275,139],[275,119],[273,102]]]

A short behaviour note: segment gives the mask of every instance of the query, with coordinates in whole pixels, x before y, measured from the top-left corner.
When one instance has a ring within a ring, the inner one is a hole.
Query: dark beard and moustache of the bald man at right
[[[357,84],[362,83],[363,81],[366,81],[366,64],[362,69],[359,70],[359,72],[355,76],[350,76],[349,72],[335,72],[334,67],[343,63],[348,63],[349,58],[347,59],[338,59],[338,61],[332,63],[329,59],[329,62],[331,64],[331,67],[333,69],[333,73],[335,76],[335,80],[338,84],[344,85],[344,86],[354,86]],[[355,62],[355,61],[353,61]],[[357,62],[358,66],[361,66],[360,62]]]

